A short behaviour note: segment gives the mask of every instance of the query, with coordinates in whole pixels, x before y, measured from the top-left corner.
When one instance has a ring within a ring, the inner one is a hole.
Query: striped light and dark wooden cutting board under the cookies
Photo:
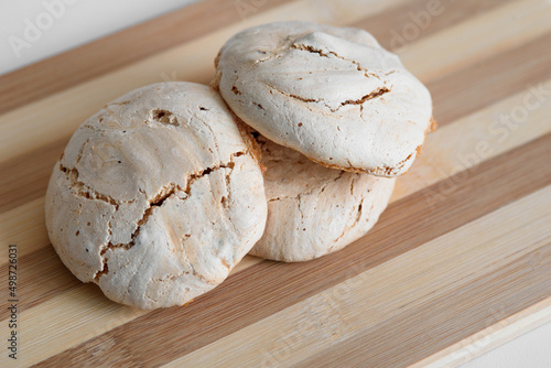
[[[451,367],[551,320],[551,3],[205,0],[0,76],[2,302],[18,251],[18,360],[1,367]],[[162,80],[208,83],[244,28],[366,29],[440,123],[377,226],[305,263],[247,257],[184,307],[107,300],[62,264],[44,193],[74,130]],[[0,312],[10,336],[10,312]]]

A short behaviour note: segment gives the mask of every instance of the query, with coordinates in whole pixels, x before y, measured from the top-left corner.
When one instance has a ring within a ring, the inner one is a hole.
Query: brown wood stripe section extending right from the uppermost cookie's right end
[[[461,35],[460,35],[461,36]],[[430,82],[440,126],[551,78],[551,33]],[[528,93],[527,93],[528,95]],[[550,98],[550,96],[544,96]],[[530,100],[533,102],[533,98]],[[512,109],[512,107],[511,107]]]

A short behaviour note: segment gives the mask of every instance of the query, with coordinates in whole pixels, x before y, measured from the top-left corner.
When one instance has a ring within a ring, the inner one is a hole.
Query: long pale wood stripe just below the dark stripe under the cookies
[[[460,288],[468,289],[477,279],[551,243],[551,236],[544,229],[551,221],[550,208],[551,186],[548,186],[165,367],[222,364],[237,367],[241,361],[250,367],[290,367],[391,317],[415,310],[424,310],[425,315],[434,313],[439,307],[432,301]],[[519,231],[525,229],[530,234]],[[410,292],[412,288],[418,291],[415,294]],[[415,342],[422,344],[420,339]],[[247,346],[242,342],[248,342]],[[377,356],[377,351],[369,353],[374,358]],[[377,358],[369,362],[374,367],[390,364]]]

